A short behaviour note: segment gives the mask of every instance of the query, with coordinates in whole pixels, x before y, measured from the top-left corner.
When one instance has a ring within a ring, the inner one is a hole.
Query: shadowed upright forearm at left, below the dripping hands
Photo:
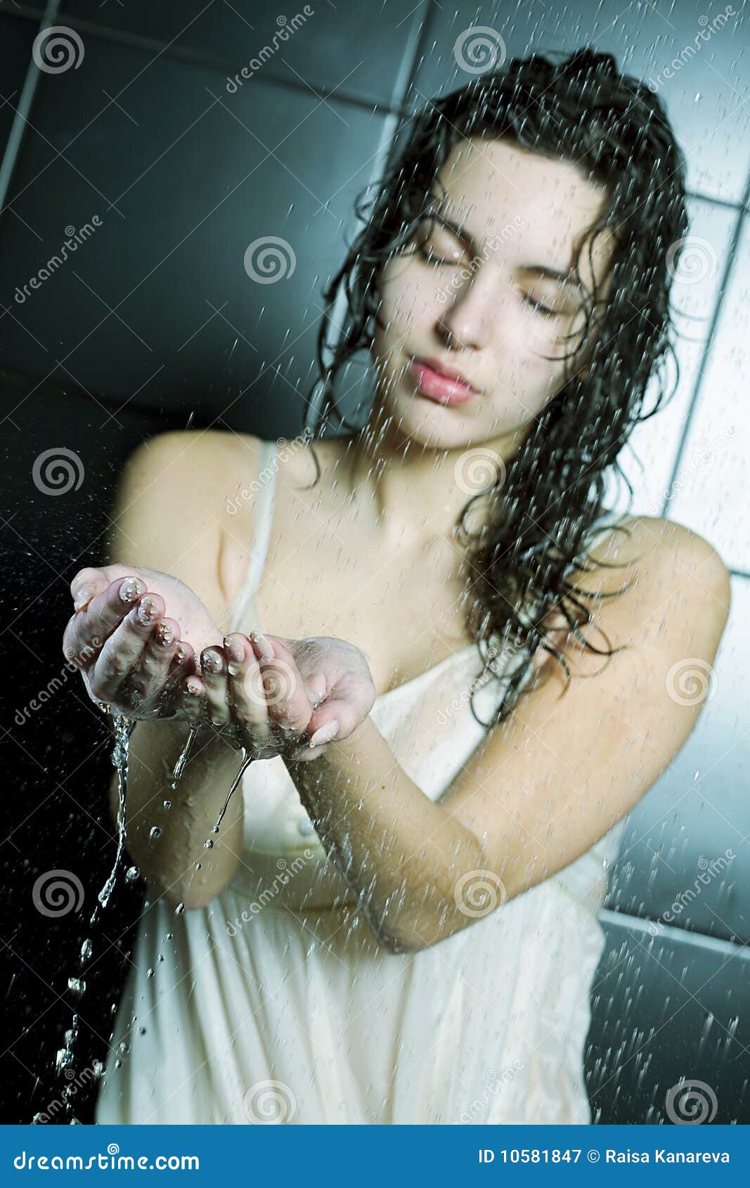
[[[209,903],[229,881],[242,846],[238,788],[219,833],[212,827],[240,765],[241,752],[210,728],[193,741],[176,790],[172,770],[188,737],[185,722],[140,721],[130,744],[126,849],[158,895],[185,908]],[[116,789],[116,775],[113,788]],[[164,801],[171,801],[166,808]],[[116,820],[116,797],[112,797]],[[152,829],[160,833],[151,835]],[[204,848],[207,840],[213,841]],[[195,868],[200,862],[200,870]]]

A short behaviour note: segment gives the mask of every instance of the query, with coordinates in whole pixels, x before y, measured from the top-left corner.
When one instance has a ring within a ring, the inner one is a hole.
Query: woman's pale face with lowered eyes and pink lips
[[[598,235],[593,274],[586,247],[580,279],[568,277],[605,198],[568,163],[472,139],[455,146],[440,179],[440,217],[424,221],[383,270],[384,328],[372,354],[377,403],[399,434],[449,449],[523,436],[562,387],[563,355],[585,324],[580,285],[592,295],[595,280],[606,296],[613,241]],[[427,360],[458,372],[473,390],[468,399],[441,384]],[[584,362],[579,355],[573,371]]]

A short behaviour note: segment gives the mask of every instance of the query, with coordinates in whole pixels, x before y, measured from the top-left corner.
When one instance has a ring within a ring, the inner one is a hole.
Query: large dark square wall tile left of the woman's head
[[[8,366],[239,428],[271,406],[298,430],[382,118],[265,80],[228,95],[218,71],[88,37],[78,69],[40,81],[33,124],[0,228]],[[272,284],[244,263],[266,236]]]

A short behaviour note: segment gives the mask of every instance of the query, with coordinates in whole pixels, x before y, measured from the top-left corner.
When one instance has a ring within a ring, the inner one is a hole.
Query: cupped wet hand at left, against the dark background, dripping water
[[[196,719],[185,682],[218,633],[197,595],[169,574],[120,564],[80,570],[70,593],[63,652],[92,700],[130,718]]]

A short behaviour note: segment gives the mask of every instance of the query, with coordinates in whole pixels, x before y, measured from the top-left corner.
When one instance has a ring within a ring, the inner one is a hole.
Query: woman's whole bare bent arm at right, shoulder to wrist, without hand
[[[359,893],[380,944],[436,944],[590,849],[648,791],[713,689],[730,605],[727,570],[701,537],[668,520],[629,522],[597,560],[635,569],[579,573],[590,604],[560,665],[496,726],[437,803],[395,760],[371,719],[311,762],[286,760],[329,857]],[[601,633],[604,632],[604,634]],[[688,795],[689,789],[686,790]]]

